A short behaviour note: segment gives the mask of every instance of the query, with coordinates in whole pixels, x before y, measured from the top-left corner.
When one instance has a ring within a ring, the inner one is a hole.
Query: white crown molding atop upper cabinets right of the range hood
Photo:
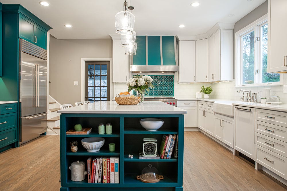
[[[235,23],[216,23],[209,31],[204,34],[199,35],[177,35],[179,40],[201,40],[209,38],[214,34],[218,29],[233,29]]]

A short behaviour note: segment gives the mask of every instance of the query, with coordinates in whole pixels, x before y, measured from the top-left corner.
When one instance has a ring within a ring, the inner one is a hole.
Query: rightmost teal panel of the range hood
[[[175,66],[174,36],[162,36],[162,62],[165,66]]]

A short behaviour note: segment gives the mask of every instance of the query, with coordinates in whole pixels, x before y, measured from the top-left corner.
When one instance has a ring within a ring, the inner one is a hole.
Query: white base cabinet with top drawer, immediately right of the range
[[[177,101],[177,107],[184,109],[184,127],[197,127],[197,101]]]

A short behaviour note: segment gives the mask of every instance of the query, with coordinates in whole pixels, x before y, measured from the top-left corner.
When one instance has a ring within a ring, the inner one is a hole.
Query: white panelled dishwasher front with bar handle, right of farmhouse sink
[[[234,149],[247,157],[254,157],[255,108],[235,106]]]

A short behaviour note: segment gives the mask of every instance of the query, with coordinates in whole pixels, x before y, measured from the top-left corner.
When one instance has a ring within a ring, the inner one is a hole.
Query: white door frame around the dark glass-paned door
[[[112,74],[113,74],[113,59],[112,58],[81,58],[81,101],[85,101],[85,62],[86,61],[108,61],[110,62],[110,100],[112,100],[113,84],[112,84]]]

